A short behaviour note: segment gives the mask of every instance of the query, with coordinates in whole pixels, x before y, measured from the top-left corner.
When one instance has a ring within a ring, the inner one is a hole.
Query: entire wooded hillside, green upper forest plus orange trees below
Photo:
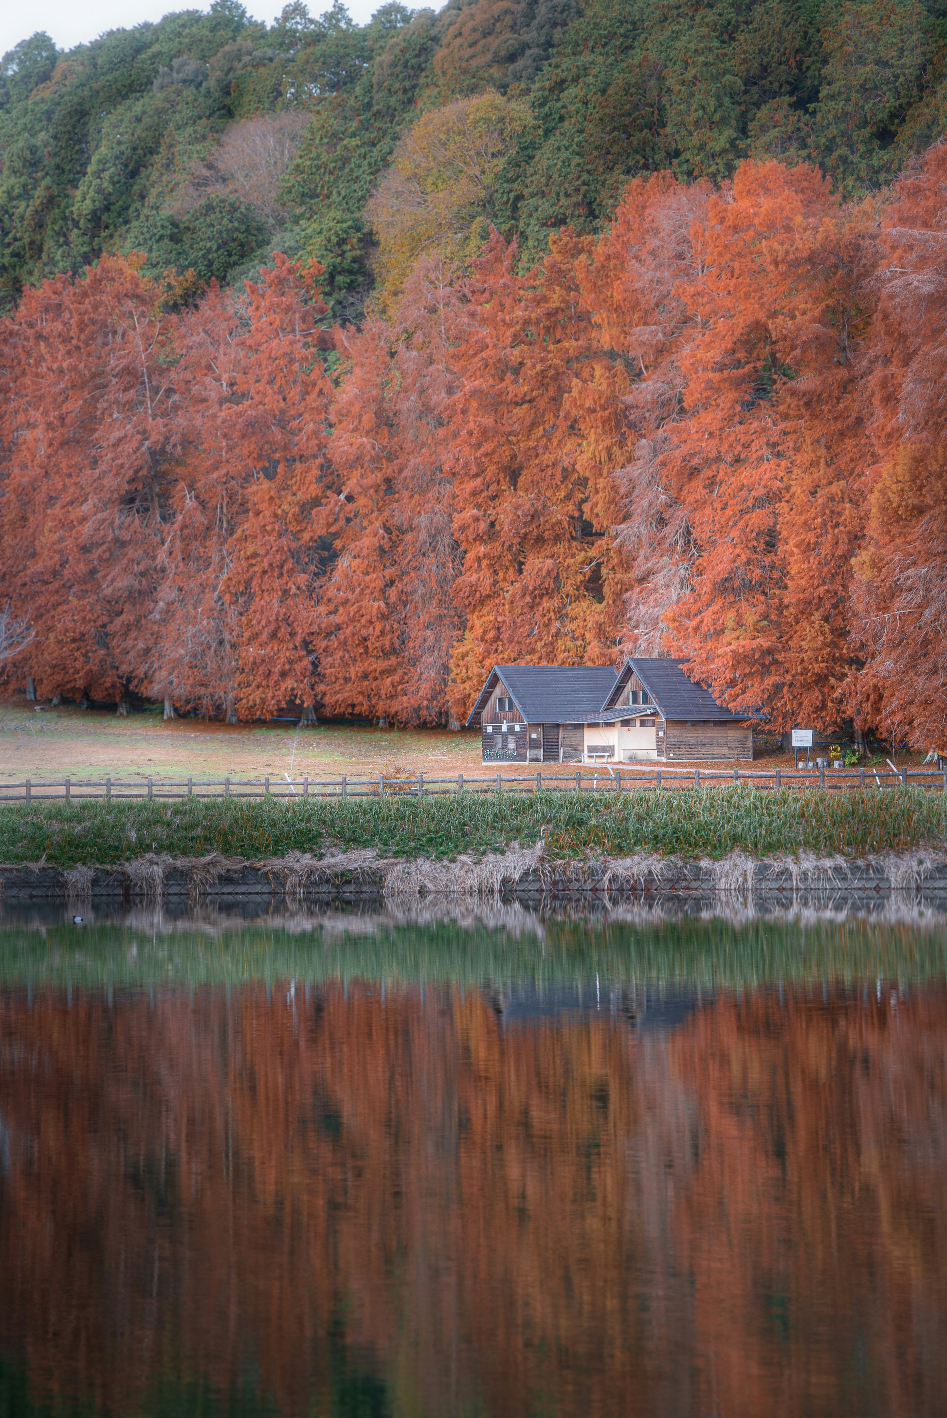
[[[7,683],[445,723],[673,654],[943,746],[947,6],[214,0],[0,69]]]

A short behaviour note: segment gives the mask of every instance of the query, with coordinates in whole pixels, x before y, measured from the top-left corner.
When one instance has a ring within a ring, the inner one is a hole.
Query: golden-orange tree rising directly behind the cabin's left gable
[[[584,428],[587,406],[614,398],[615,376],[577,279],[585,251],[564,235],[542,271],[520,275],[516,247],[493,233],[464,286],[449,428],[466,620],[452,658],[458,715],[496,661],[617,655],[621,597],[603,560]]]

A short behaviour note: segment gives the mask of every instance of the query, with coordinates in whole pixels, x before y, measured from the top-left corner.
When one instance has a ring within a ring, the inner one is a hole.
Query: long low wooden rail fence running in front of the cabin
[[[204,781],[198,778],[135,778],[118,777],[77,778],[67,777],[52,781],[26,778],[23,783],[0,783],[0,803],[40,801],[167,801],[172,798],[281,798],[301,801],[302,798],[363,798],[363,797],[437,797],[455,793],[631,793],[642,788],[716,788],[743,784],[753,788],[791,788],[808,791],[842,791],[845,788],[906,788],[909,784],[936,791],[947,791],[947,770],[941,769],[899,769],[883,773],[872,767],[795,770],[775,769],[761,773],[750,769],[615,769],[577,770],[563,773],[488,774],[469,776],[458,773],[451,778],[432,778],[424,773],[410,777],[350,778],[232,778]]]

